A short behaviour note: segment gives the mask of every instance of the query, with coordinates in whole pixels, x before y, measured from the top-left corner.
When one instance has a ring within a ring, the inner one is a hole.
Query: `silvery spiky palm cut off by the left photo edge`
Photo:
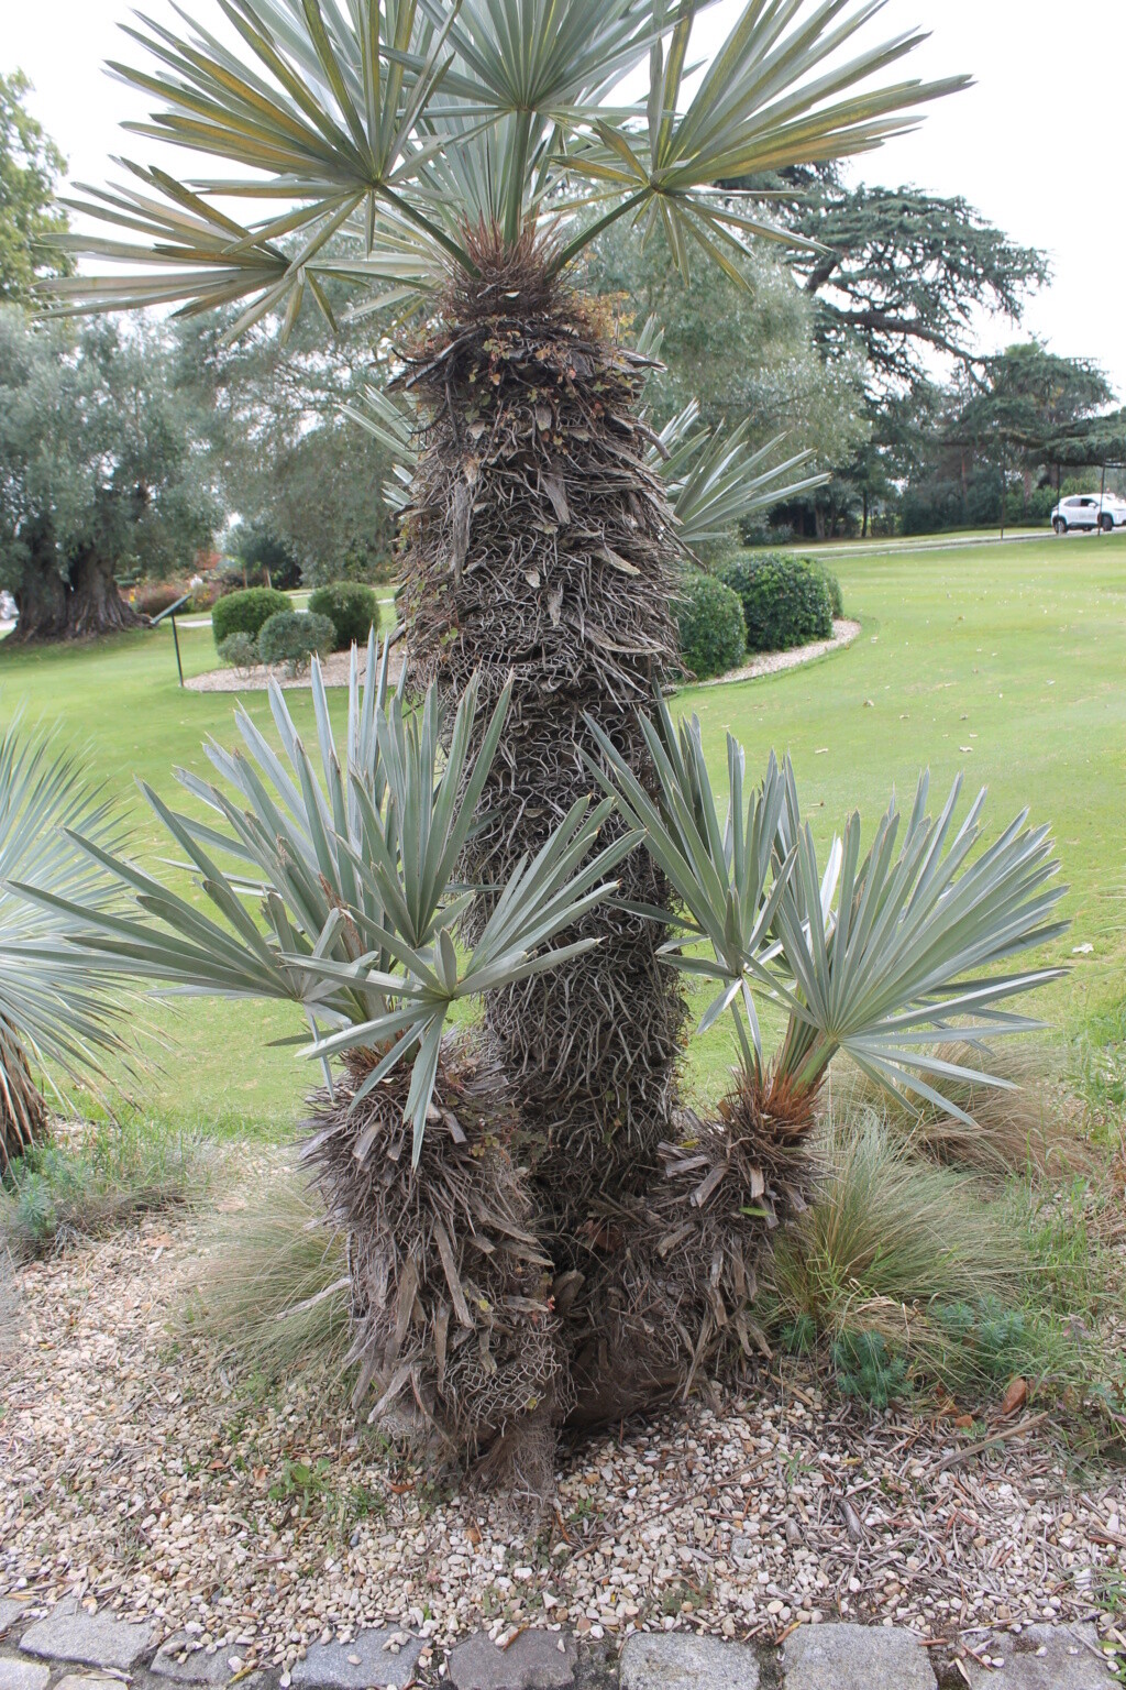
[[[101,1058],[125,1049],[113,982],[76,948],[111,904],[113,882],[68,828],[103,845],[120,833],[79,759],[59,754],[49,732],[12,722],[0,739],[0,1173],[47,1131],[32,1065],[62,1102],[54,1075],[96,1080]],[[84,908],[44,909],[22,882]]]

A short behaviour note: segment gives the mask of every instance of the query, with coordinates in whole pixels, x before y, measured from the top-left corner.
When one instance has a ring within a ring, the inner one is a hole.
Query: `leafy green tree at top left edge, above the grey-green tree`
[[[37,281],[74,269],[54,245],[68,226],[54,203],[66,159],[27,110],[30,91],[22,71],[0,71],[0,301],[24,304]]]

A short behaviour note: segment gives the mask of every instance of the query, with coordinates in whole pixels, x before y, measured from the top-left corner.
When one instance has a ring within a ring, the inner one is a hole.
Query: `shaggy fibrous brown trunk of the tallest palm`
[[[476,257],[481,275],[459,281],[446,331],[409,377],[424,450],[403,605],[414,681],[437,678],[456,696],[479,671],[488,701],[515,679],[464,864],[498,884],[591,793],[587,715],[645,779],[635,711],[675,657],[675,576],[670,510],[636,422],[645,362],[547,277],[535,248],[483,245]],[[631,902],[669,901],[645,852],[620,882]],[[471,924],[488,911],[483,896]],[[581,931],[596,950],[485,1011],[576,1333],[589,1323],[577,1286],[601,1273],[606,1212],[660,1178],[684,1021],[658,923],[601,908]]]

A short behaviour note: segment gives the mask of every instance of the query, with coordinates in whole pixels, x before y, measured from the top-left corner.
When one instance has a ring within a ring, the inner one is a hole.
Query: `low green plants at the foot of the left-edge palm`
[[[95,1132],[35,1144],[0,1183],[0,1246],[19,1261],[74,1239],[100,1237],[138,1215],[196,1202],[209,1158],[194,1137],[150,1122],[108,1122]]]

